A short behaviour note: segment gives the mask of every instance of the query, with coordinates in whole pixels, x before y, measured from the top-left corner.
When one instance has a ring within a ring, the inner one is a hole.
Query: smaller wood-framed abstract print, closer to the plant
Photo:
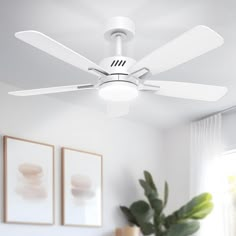
[[[62,224],[102,226],[102,156],[62,148]]]

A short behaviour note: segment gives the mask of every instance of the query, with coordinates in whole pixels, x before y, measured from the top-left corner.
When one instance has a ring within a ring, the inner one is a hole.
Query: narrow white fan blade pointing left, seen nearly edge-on
[[[50,87],[50,88],[14,91],[14,92],[9,92],[8,94],[14,95],[14,96],[33,96],[33,95],[63,93],[63,92],[71,92],[71,91],[84,90],[84,89],[94,89],[94,88],[95,88],[95,86],[92,84],[68,85],[68,86],[60,86],[60,87]]]

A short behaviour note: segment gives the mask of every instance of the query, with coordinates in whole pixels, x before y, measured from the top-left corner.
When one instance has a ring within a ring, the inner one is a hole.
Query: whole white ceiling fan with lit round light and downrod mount
[[[97,89],[108,101],[122,102],[136,98],[139,91],[157,95],[202,101],[217,101],[227,92],[226,87],[195,83],[148,80],[152,75],[172,69],[203,55],[224,43],[224,39],[206,26],[196,26],[140,61],[122,55],[122,42],[134,37],[134,23],[126,17],[108,21],[105,38],[115,42],[116,55],[104,58],[99,65],[38,31],[21,31],[16,38],[66,63],[98,76],[96,84],[77,84],[9,92],[15,96],[31,96]],[[127,113],[127,109],[126,112]]]

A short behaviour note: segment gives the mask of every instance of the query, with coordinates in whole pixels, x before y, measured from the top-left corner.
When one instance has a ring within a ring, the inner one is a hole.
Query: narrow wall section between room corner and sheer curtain
[[[172,212],[189,200],[190,132],[188,125],[166,130],[163,136],[163,177],[169,183],[167,212]]]

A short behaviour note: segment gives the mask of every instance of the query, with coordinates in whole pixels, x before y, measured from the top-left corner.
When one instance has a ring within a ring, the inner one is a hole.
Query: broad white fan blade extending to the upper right
[[[224,39],[218,33],[199,25],[150,53],[129,71],[134,73],[141,68],[147,68],[154,75],[207,53],[223,43]]]

